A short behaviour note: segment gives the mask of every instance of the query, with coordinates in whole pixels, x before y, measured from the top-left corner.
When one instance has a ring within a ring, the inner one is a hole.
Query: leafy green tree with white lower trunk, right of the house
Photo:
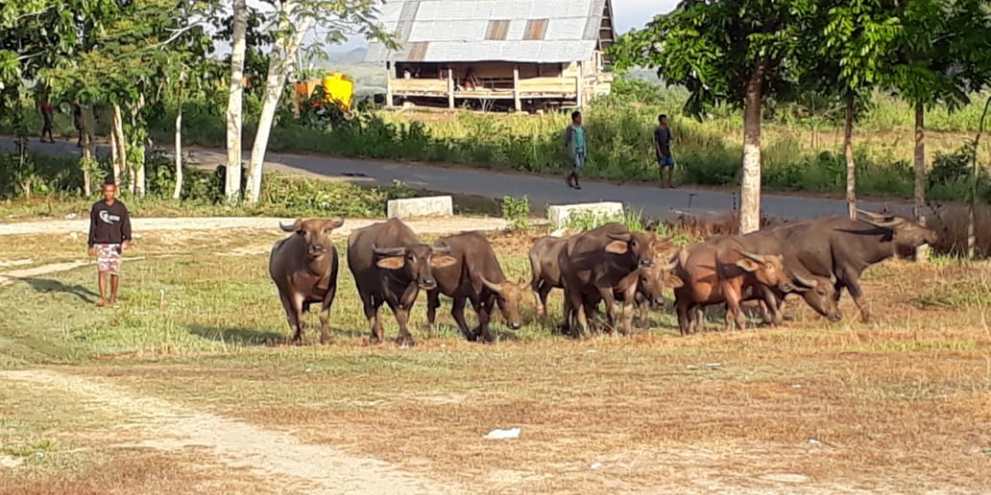
[[[817,12],[812,0],[684,0],[613,48],[620,68],[656,67],[668,84],[685,86],[689,114],[701,118],[720,102],[743,108],[742,233],[760,228],[764,102],[794,88],[794,57]]]

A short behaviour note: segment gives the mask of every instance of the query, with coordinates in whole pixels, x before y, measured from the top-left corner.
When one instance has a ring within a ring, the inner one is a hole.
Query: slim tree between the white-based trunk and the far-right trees
[[[853,127],[861,102],[881,82],[889,54],[901,34],[901,21],[892,0],[835,0],[826,2],[822,29],[803,33],[801,57],[808,67],[802,85],[836,93],[843,100],[843,155],[846,158],[847,210],[857,219],[857,166],[853,155]]]

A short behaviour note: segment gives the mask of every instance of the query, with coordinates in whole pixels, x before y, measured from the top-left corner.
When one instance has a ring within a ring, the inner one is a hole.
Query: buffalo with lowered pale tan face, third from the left
[[[528,284],[513,283],[506,278],[488,239],[477,232],[467,232],[445,237],[439,242],[450,249],[451,257],[456,262],[434,269],[437,288],[427,292],[427,321],[430,325],[434,324],[437,316],[440,294],[444,294],[454,299],[451,315],[468,340],[474,341],[479,337],[486,342],[493,340],[489,320],[496,305],[510,328],[517,330],[523,326],[520,302]],[[468,328],[465,320],[467,302],[471,302],[478,314],[478,328],[474,331]]]

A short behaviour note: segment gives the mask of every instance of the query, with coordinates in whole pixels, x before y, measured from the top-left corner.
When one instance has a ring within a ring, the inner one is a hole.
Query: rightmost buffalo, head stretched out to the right
[[[866,322],[870,321],[870,309],[860,288],[864,270],[893,256],[911,257],[920,246],[938,239],[932,230],[904,218],[863,210],[860,217],[830,217],[783,226],[780,235],[809,273],[835,280],[837,302],[844,288],[850,292]]]

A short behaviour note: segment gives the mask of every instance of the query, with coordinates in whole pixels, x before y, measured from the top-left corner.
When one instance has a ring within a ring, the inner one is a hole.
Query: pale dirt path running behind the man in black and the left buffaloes
[[[274,217],[194,217],[194,218],[135,218],[131,227],[136,233],[142,231],[172,230],[230,230],[252,229],[279,231],[279,222],[291,222],[286,218]],[[335,231],[346,236],[353,229],[365,227],[380,220],[348,219],[344,226]],[[412,220],[410,227],[421,234],[448,234],[463,230],[492,231],[506,228],[506,222],[498,218],[445,217]],[[0,224],[2,235],[31,234],[85,234],[89,220],[51,220],[41,222],[21,222]]]

